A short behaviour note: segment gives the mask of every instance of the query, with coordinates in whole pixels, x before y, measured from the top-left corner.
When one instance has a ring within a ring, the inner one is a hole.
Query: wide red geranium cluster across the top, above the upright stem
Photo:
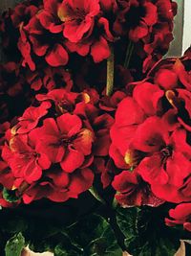
[[[168,50],[176,9],[171,0],[28,1],[4,14],[0,32],[7,53],[32,71],[44,60],[53,67],[70,65],[74,52],[96,63],[110,57],[111,47],[124,56],[129,42],[146,71]]]

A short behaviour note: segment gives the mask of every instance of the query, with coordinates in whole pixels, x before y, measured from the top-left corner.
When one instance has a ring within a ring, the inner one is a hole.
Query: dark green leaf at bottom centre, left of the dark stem
[[[71,245],[64,242],[59,244],[55,248],[56,256],[73,256],[74,251],[76,255],[82,256],[122,255],[110,224],[98,215],[87,216],[64,229],[62,233],[67,234]]]

